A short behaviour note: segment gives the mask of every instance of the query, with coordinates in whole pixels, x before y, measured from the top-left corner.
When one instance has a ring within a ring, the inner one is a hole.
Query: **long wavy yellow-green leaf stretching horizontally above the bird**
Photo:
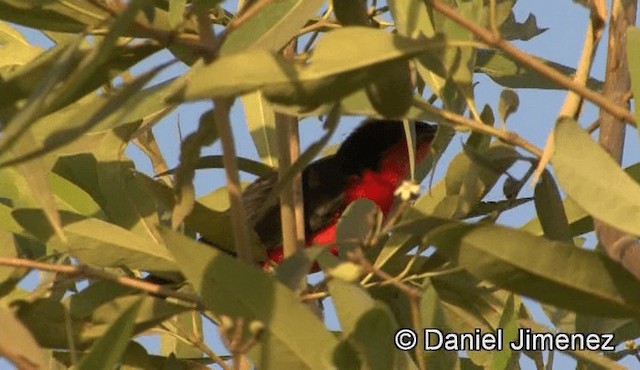
[[[257,50],[223,56],[209,65],[194,67],[177,83],[176,98],[198,100],[262,89],[272,101],[305,102],[315,107],[362,87],[368,67],[410,58],[440,46],[437,40],[412,40],[371,28],[347,27],[327,33],[304,66]],[[340,58],[335,58],[336,55]]]

